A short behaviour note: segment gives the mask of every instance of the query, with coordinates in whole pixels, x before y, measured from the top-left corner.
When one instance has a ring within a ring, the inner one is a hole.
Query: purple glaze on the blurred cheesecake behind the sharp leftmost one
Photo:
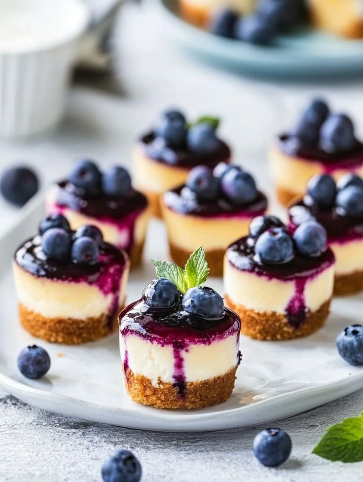
[[[51,207],[60,214],[67,208],[98,221],[113,224],[124,232],[125,240],[119,248],[128,254],[134,244],[135,222],[147,207],[144,194],[132,189],[125,196],[109,196],[104,193],[87,195],[82,188],[67,181],[57,184],[55,206]]]

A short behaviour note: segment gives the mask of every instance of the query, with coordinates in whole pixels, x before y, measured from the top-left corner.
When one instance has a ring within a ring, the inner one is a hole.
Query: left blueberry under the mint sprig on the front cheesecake
[[[178,288],[166,278],[150,281],[143,293],[145,303],[151,308],[171,308],[176,305],[179,297]]]

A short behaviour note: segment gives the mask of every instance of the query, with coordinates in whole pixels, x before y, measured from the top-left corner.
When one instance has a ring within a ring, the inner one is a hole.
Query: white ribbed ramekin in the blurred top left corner
[[[29,136],[62,116],[89,11],[82,0],[0,0],[0,15],[0,136]]]

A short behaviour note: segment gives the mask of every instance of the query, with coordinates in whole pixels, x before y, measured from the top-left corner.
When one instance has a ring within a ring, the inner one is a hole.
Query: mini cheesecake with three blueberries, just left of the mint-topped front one
[[[117,326],[129,272],[127,255],[84,225],[72,231],[50,215],[16,251],[13,273],[22,326],[46,341],[97,340]]]

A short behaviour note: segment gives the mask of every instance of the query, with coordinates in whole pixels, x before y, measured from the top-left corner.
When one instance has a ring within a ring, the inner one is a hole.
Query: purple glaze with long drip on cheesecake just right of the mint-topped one
[[[254,248],[244,237],[233,243],[227,250],[227,260],[237,269],[264,276],[270,280],[293,281],[294,295],[286,306],[289,324],[298,328],[306,318],[306,283],[322,273],[334,263],[334,255],[327,249],[321,256],[301,256],[295,252],[291,261],[281,264],[261,263],[255,256]]]

